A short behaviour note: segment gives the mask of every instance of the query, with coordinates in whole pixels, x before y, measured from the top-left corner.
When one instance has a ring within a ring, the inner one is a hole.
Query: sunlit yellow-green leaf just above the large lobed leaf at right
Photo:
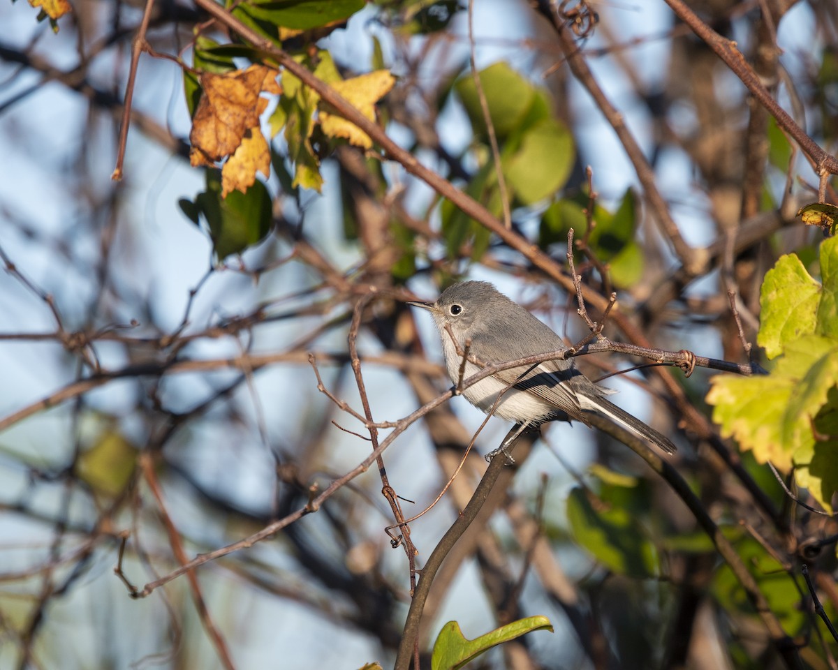
[[[820,284],[794,255],[780,256],[765,273],[759,294],[760,324],[757,343],[768,358],[783,353],[789,342],[815,332]]]

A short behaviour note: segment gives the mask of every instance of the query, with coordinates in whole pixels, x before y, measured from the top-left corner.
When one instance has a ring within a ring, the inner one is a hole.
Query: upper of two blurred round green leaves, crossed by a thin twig
[[[489,106],[489,118],[492,120],[495,134],[499,140],[503,140],[510,132],[520,127],[520,122],[535,100],[535,87],[502,62],[480,71],[478,77],[486,104]],[[474,131],[485,136],[486,124],[473,77],[463,77],[454,88],[463,101]]]

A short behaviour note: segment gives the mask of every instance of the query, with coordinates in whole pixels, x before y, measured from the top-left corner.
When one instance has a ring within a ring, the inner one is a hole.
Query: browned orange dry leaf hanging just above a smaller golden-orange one
[[[241,144],[245,132],[259,123],[259,93],[267,73],[264,65],[251,65],[223,75],[204,72],[201,95],[192,120],[189,162],[212,165]]]

